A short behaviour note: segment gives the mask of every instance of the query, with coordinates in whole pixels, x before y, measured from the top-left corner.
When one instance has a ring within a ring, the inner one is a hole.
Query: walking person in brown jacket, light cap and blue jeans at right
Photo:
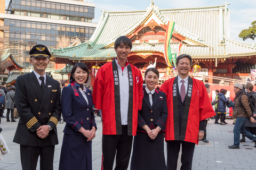
[[[245,129],[245,122],[248,118],[250,118],[252,123],[256,123],[254,118],[252,117],[252,111],[249,105],[249,100],[246,95],[244,95],[242,84],[235,84],[234,91],[236,97],[234,99],[234,107],[233,107],[233,117],[236,118],[236,123],[233,129],[234,133],[234,144],[228,146],[229,149],[240,149],[239,142],[240,142],[240,133],[244,134],[245,137],[249,138],[256,142],[256,137],[252,135],[252,133],[246,131]],[[241,104],[239,102],[239,98],[241,98]]]

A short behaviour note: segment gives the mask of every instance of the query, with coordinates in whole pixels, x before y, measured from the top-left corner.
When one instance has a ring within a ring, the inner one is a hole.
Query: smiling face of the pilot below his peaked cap
[[[44,74],[45,69],[50,62],[48,57],[31,57],[29,61],[33,65],[34,71],[40,75],[42,73]]]

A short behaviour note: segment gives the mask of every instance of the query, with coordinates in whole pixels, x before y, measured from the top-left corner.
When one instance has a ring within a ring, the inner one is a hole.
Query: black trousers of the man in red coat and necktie
[[[167,146],[167,169],[176,170],[181,145],[181,170],[191,170],[195,149],[195,143],[180,140],[166,141]]]

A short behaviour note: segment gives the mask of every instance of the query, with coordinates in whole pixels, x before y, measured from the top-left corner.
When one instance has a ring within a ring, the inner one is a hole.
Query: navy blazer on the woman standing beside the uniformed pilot
[[[71,86],[64,87],[61,94],[61,110],[62,116],[66,122],[65,134],[83,135],[78,132],[80,128],[91,130],[92,126],[97,128],[93,114],[92,92],[86,88],[86,97],[88,103],[84,99],[79,90],[78,95],[75,96],[74,90]]]

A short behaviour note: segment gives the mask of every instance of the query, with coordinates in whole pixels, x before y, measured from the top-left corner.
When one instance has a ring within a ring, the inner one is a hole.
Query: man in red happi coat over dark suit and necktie
[[[215,115],[204,83],[188,75],[191,65],[191,56],[177,57],[178,76],[166,80],[160,89],[166,94],[168,107],[165,132],[168,170],[177,169],[180,145],[180,169],[192,169],[195,144],[204,137],[204,121]]]

